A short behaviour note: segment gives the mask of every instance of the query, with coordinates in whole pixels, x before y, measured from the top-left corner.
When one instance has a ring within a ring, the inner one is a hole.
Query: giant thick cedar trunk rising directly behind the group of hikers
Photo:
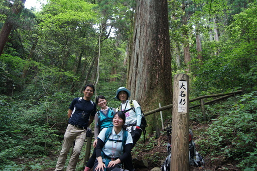
[[[127,88],[146,112],[172,102],[167,0],[138,1],[135,19]]]

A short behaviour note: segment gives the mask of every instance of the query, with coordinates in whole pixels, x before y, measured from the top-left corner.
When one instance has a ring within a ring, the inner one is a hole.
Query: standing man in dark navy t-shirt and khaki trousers
[[[91,101],[94,93],[94,86],[86,84],[83,89],[84,97],[75,98],[68,110],[69,124],[64,134],[62,150],[58,157],[55,171],[63,170],[67,154],[75,140],[72,155],[67,170],[75,170],[80,151],[86,139],[87,127],[93,122],[96,113],[96,104]]]

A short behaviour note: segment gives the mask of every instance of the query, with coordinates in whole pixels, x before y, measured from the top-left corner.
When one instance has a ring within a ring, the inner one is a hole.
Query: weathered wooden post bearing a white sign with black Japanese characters
[[[189,170],[189,76],[176,74],[173,84],[171,170]]]

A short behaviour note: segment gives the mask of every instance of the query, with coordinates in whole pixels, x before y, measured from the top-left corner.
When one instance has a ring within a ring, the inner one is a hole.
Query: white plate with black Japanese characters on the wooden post
[[[179,81],[178,112],[187,113],[187,81]]]

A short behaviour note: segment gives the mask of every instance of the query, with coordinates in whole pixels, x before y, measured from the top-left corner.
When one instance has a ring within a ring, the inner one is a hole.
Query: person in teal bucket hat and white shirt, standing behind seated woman
[[[125,126],[127,127],[127,131],[129,131],[133,138],[133,147],[136,145],[139,140],[142,129],[140,129],[142,114],[141,114],[141,106],[136,100],[133,100],[133,106],[131,106],[131,101],[129,97],[131,96],[131,92],[124,87],[120,87],[116,91],[115,99],[121,101],[119,107],[116,111],[123,111],[126,116]]]

